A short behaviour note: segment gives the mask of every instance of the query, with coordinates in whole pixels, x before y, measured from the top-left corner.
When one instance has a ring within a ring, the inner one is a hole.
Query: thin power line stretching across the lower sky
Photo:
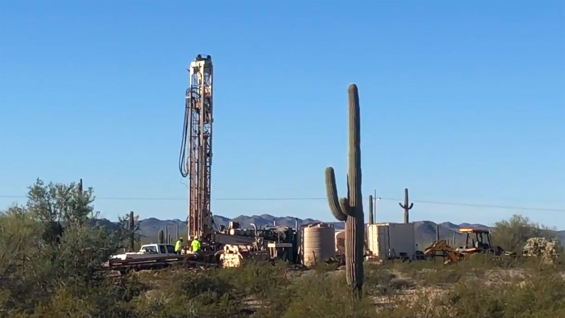
[[[24,195],[0,195],[5,198],[26,198]],[[393,197],[377,197],[379,200],[388,201],[402,201],[403,199]],[[186,198],[181,197],[128,197],[128,196],[100,196],[96,200],[118,200],[118,201],[186,201]],[[212,199],[214,201],[315,201],[327,200],[325,197],[219,197]],[[424,201],[414,200],[414,203],[422,204],[438,204],[438,205],[455,205],[460,207],[471,208],[492,208],[492,209],[513,209],[513,210],[537,210],[537,211],[553,211],[565,212],[565,209],[551,209],[539,207],[514,207],[511,205],[492,205],[492,204],[475,204],[475,203],[458,203],[458,202],[444,202],[444,201]]]

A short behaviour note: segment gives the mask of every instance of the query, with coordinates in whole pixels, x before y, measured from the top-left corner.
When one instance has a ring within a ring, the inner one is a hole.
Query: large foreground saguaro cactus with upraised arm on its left
[[[325,188],[329,208],[338,221],[345,221],[345,273],[353,295],[360,298],[363,287],[364,214],[361,194],[361,147],[359,93],[350,84],[349,94],[349,170],[347,197],[338,199],[333,167],[325,169]]]

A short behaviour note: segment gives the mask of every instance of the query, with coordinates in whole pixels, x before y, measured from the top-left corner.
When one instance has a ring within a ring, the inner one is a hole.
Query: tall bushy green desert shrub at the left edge
[[[92,193],[38,180],[26,205],[0,212],[0,313],[31,315],[57,295],[102,288],[97,269],[123,246],[125,231],[90,222],[97,217]]]

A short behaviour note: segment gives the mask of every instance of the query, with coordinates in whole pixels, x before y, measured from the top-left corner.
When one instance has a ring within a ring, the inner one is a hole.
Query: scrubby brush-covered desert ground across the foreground
[[[533,260],[367,263],[365,296],[352,302],[335,267],[173,268],[114,278],[97,290],[62,287],[34,311],[13,308],[5,316],[565,317],[564,273]]]

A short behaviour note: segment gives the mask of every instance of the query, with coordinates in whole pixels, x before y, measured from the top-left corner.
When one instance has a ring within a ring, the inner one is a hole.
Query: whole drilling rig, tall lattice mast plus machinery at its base
[[[184,126],[179,156],[180,173],[183,178],[188,178],[188,242],[198,238],[202,242],[203,251],[216,254],[224,250],[224,247],[227,247],[224,251],[228,252],[237,251],[239,247],[251,248],[254,252],[266,251],[269,247],[278,249],[277,253],[284,251],[289,254],[289,251],[293,251],[295,258],[296,229],[277,226],[257,229],[255,226],[251,231],[241,229],[238,222],[229,222],[228,227],[215,226],[210,208],[214,122],[212,58],[210,55],[198,54],[190,63],[188,71],[190,85],[185,93]],[[234,245],[238,247],[233,247]]]

